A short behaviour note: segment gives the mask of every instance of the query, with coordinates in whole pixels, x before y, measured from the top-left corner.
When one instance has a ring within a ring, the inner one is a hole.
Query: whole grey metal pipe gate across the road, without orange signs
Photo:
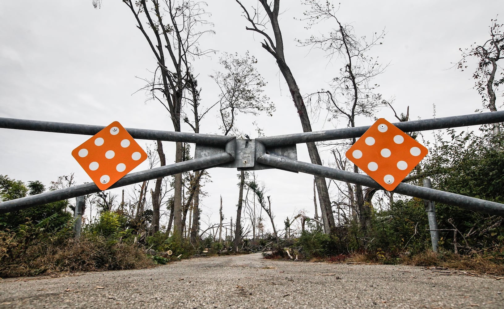
[[[504,111],[396,122],[393,123],[393,125],[403,132],[415,132],[482,125],[484,123],[495,122],[504,122]],[[95,135],[104,127],[0,117],[0,128]],[[361,184],[370,188],[383,189],[380,184],[367,175],[297,160],[296,144],[358,138],[366,132],[367,129],[369,129],[369,126],[244,140],[230,136],[126,128],[135,139],[195,143],[195,158],[190,161],[178,162],[127,174],[114,183],[110,189],[127,186],[148,179],[165,177],[190,170],[208,169],[211,167],[236,167],[238,170],[278,168]],[[98,189],[94,183],[80,184],[66,189],[0,202],[0,213],[66,200],[99,191],[100,189]],[[426,187],[414,186],[413,184],[404,182],[400,183],[393,192],[474,211],[501,216],[504,215],[504,204],[433,190]]]

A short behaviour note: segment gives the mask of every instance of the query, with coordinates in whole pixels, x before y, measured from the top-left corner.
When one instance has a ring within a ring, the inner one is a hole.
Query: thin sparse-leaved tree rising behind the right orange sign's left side
[[[374,113],[385,106],[388,102],[382,99],[380,94],[375,93],[376,84],[371,81],[381,74],[385,68],[377,59],[367,56],[366,52],[373,46],[382,44],[385,32],[373,33],[369,40],[365,37],[355,36],[353,27],[343,24],[336,16],[336,10],[330,2],[319,0],[303,0],[308,6],[304,13],[307,28],[312,25],[330,21],[336,26],[328,34],[320,37],[311,36],[298,42],[303,46],[313,46],[324,50],[331,60],[341,59],[344,67],[340,69],[340,75],[333,78],[331,86],[333,91],[318,91],[310,95],[316,97],[315,102],[325,103],[332,117],[344,117],[348,121],[348,127],[355,127],[358,117],[374,118]],[[352,138],[353,145],[356,139]],[[348,147],[350,145],[344,145]],[[353,171],[358,173],[359,168],[353,165]],[[360,184],[347,183],[347,188],[352,198],[355,198],[357,214],[361,227],[370,228],[371,203],[370,199],[375,191],[363,189]]]

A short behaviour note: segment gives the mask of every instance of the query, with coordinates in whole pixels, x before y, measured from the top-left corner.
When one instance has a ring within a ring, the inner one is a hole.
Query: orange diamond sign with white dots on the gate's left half
[[[117,121],[74,149],[72,156],[100,190],[108,189],[147,159],[142,147]]]

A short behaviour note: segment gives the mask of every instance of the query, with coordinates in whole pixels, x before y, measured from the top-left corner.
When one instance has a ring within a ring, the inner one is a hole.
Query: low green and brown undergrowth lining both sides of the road
[[[422,176],[429,176],[433,189],[502,203],[504,151],[495,146],[501,145],[496,139],[488,127],[478,134],[438,132],[428,145],[428,158],[409,181],[418,184]],[[26,185],[8,176],[1,176],[0,184],[2,200],[45,190],[38,181]],[[255,180],[245,181],[249,191],[259,193],[258,203],[264,203],[261,188],[256,186]],[[331,234],[316,220],[301,215],[295,220],[287,218],[285,229],[277,228],[278,235],[261,223],[253,239],[250,234],[242,235],[237,250],[231,232],[221,241],[217,233],[207,233],[196,242],[190,238],[180,242],[172,233],[153,232],[146,222],[138,224],[118,206],[101,211],[92,224],[84,225],[81,237],[74,239],[71,208],[62,201],[0,215],[0,277],[134,269],[189,257],[261,251],[268,252],[267,258],[504,274],[504,218],[436,203],[440,241],[438,253],[433,253],[424,204],[417,198],[396,197],[385,207],[376,207],[366,229],[352,213],[337,220],[340,224]]]

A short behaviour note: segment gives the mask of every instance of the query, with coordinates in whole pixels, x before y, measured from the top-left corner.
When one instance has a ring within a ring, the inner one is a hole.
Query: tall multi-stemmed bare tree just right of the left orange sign
[[[210,52],[201,50],[198,39],[210,33],[205,20],[205,3],[171,0],[124,0],[137,22],[157,61],[154,76],[146,80],[144,88],[152,99],[159,101],[169,112],[173,129],[180,132],[180,113],[190,61]],[[147,27],[145,26],[147,24]],[[182,161],[182,143],[176,143],[175,162]],[[182,235],[182,176],[174,175],[173,226],[174,234]]]

